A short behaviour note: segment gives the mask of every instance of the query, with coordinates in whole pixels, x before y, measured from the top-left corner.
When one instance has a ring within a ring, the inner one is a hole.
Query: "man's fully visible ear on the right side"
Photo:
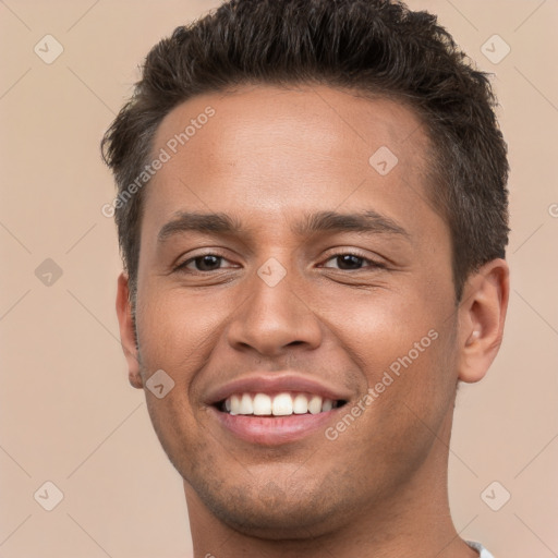
[[[459,307],[459,379],[484,377],[501,344],[509,299],[509,267],[493,259],[471,275]]]

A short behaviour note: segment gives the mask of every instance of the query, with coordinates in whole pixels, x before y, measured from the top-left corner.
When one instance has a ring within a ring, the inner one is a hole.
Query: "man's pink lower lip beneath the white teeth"
[[[324,432],[338,409],[288,416],[229,414],[215,408],[211,411],[217,414],[220,424],[236,438],[252,444],[278,446],[300,440],[319,430]]]

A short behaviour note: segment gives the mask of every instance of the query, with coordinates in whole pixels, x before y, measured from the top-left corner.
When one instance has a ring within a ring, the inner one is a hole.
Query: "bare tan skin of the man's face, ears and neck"
[[[448,444],[458,379],[481,379],[501,342],[506,262],[470,276],[456,305],[449,229],[428,203],[428,141],[410,109],[326,86],[243,86],[175,108],[154,154],[208,106],[215,116],[146,186],[140,351],[125,275],[117,301],[131,384],[158,369],[175,384],[162,399],[145,392],[184,478],[195,556],[476,556],[450,519]],[[380,146],[399,159],[386,175],[368,163]],[[317,211],[365,210],[407,234],[294,230]],[[158,242],[180,211],[227,214],[244,230]],[[335,256],[348,253],[365,259],[342,268]],[[197,270],[204,254],[225,259]],[[275,287],[257,275],[271,257],[287,271]],[[335,440],[320,429],[242,441],[207,404],[248,372],[290,369],[350,396],[335,426],[430,330],[437,339]]]

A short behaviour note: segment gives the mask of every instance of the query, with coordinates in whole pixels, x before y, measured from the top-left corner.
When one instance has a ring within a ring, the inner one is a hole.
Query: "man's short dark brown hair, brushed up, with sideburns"
[[[399,1],[231,0],[150,50],[102,156],[123,192],[174,107],[247,83],[319,83],[405,102],[432,142],[429,198],[450,228],[459,302],[469,274],[505,257],[508,243],[507,146],[487,75],[435,15]],[[133,296],[142,199],[140,190],[114,213]]]

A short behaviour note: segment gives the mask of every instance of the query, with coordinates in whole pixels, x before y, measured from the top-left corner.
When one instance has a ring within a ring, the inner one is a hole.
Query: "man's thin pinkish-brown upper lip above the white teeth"
[[[286,391],[304,391],[333,401],[347,401],[351,397],[347,388],[331,386],[322,379],[302,376],[293,372],[254,372],[210,390],[207,403],[219,403],[234,393],[280,393]]]

